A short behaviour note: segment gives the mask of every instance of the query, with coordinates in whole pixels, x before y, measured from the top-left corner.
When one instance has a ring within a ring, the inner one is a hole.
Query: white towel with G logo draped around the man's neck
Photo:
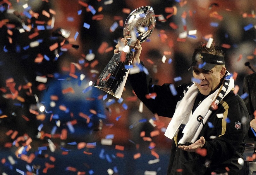
[[[228,79],[226,79],[226,77],[228,77]],[[195,109],[191,116],[195,99],[199,92],[195,83],[191,85],[187,92],[184,91],[185,95],[181,101],[178,101],[175,113],[173,114],[171,122],[169,123],[164,135],[172,139],[174,136],[176,136],[176,134],[178,134],[178,128],[180,125],[185,124],[186,126],[183,129],[183,137],[178,144],[185,144],[186,142],[194,143],[197,141],[203,125],[207,122],[207,119],[212,113],[212,111],[209,110],[212,106],[212,103],[214,102],[216,105],[219,104],[219,102],[233,88],[234,79],[231,77],[229,72],[226,71],[226,76],[221,87],[206,97]]]

